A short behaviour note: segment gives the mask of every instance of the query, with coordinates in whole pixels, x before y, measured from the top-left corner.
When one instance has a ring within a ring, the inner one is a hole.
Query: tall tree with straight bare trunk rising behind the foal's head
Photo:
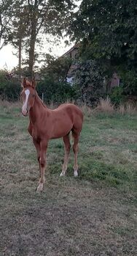
[[[62,36],[74,8],[73,0],[28,0],[23,1],[23,7],[28,10],[28,29],[26,38],[26,53],[28,54],[28,73],[34,75],[36,61],[36,43],[42,42],[42,34]],[[20,8],[21,10],[21,8]]]

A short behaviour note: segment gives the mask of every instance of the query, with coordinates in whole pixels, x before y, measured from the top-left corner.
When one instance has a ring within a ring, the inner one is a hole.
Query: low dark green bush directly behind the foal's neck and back
[[[39,96],[42,98],[42,93],[44,94],[44,102],[46,104],[50,103],[63,103],[67,100],[71,101],[76,98],[76,92],[74,87],[66,82],[55,82],[52,78],[44,78],[43,81],[39,81],[36,87]]]

